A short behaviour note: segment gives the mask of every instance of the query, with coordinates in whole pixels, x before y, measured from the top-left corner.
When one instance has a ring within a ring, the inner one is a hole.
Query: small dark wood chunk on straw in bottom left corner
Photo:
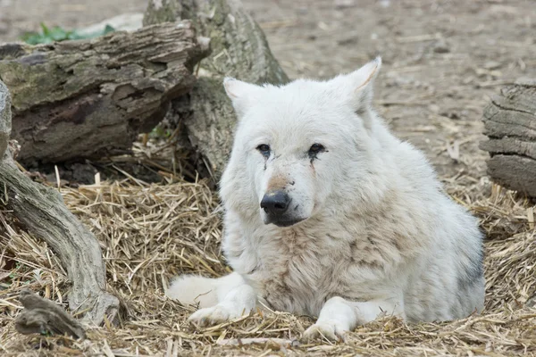
[[[21,334],[66,334],[76,338],[86,338],[84,328],[60,305],[32,293],[29,289],[21,291],[19,300],[24,309],[15,320],[15,328]]]

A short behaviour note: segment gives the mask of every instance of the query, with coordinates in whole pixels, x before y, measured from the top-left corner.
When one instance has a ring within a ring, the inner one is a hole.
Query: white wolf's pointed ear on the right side
[[[371,106],[373,83],[380,69],[381,57],[376,57],[376,59],[366,63],[359,70],[348,74],[350,89],[352,90],[350,100],[356,112],[364,112]]]

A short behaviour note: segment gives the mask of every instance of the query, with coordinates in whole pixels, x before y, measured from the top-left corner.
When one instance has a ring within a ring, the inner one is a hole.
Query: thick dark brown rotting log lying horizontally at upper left
[[[191,21],[45,46],[0,46],[13,96],[13,134],[25,164],[130,151],[194,85],[209,52]]]

